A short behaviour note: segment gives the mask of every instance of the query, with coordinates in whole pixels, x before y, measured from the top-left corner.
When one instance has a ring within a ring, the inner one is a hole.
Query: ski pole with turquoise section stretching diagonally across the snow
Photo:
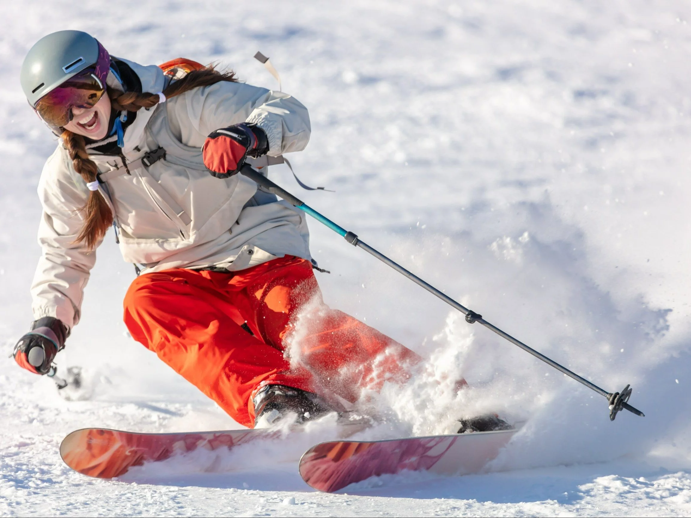
[[[568,370],[566,367],[563,365],[560,365],[559,363],[556,363],[556,361],[553,361],[551,358],[548,358],[544,354],[536,351],[532,347],[528,347],[524,343],[520,342],[516,338],[513,338],[510,334],[507,334],[503,332],[501,329],[498,327],[492,325],[491,323],[487,322],[482,318],[482,315],[479,315],[475,313],[475,311],[471,311],[471,309],[468,309],[467,307],[464,307],[460,303],[457,303],[453,298],[445,295],[442,293],[442,291],[439,291],[437,288],[433,287],[430,285],[428,282],[425,282],[415,274],[410,273],[410,271],[406,270],[404,267],[399,265],[397,262],[392,261],[390,258],[386,257],[383,253],[373,249],[370,247],[369,244],[366,244],[363,242],[358,236],[350,231],[347,231],[343,229],[343,227],[339,227],[336,223],[332,222],[330,219],[326,218],[325,216],[321,215],[319,212],[315,211],[310,207],[309,205],[305,204],[302,200],[299,200],[296,198],[294,195],[289,193],[288,191],[285,191],[285,189],[281,188],[280,186],[274,184],[271,180],[266,178],[264,175],[261,173],[258,173],[258,171],[255,171],[252,169],[252,166],[249,166],[249,164],[243,165],[242,169],[240,169],[240,173],[243,173],[243,175],[247,176],[250,180],[254,180],[256,184],[261,186],[265,191],[268,191],[269,193],[275,194],[276,196],[280,196],[283,198],[283,200],[287,201],[288,203],[294,205],[298,209],[301,209],[305,213],[309,214],[314,218],[315,220],[325,224],[327,227],[335,231],[336,233],[339,233],[343,238],[345,238],[346,241],[348,241],[350,244],[352,244],[355,247],[360,247],[364,251],[372,254],[372,256],[375,256],[377,259],[379,259],[381,262],[384,262],[384,264],[392,267],[396,271],[398,271],[400,274],[403,274],[413,282],[415,282],[417,285],[422,286],[424,289],[429,291],[431,294],[437,296],[438,298],[441,298],[444,300],[445,303],[450,305],[451,307],[454,307],[458,311],[460,311],[462,314],[466,316],[466,322],[468,324],[473,324],[475,322],[480,323],[484,325],[487,329],[490,329],[491,331],[495,332],[502,338],[509,340],[509,342],[513,343],[513,345],[518,345],[521,349],[523,349],[525,352],[528,352],[535,356],[536,358],[539,358],[540,360],[544,361],[547,363],[547,365],[551,365],[551,367],[554,367],[556,370],[566,374],[567,376],[574,378],[578,383],[582,383],[586,387],[588,387],[591,390],[594,390],[601,396],[605,396],[607,398],[607,401],[609,402],[609,419],[610,421],[614,421],[614,418],[616,417],[616,414],[620,410],[628,410],[629,412],[632,412],[636,414],[637,416],[645,417],[645,414],[641,412],[641,410],[637,410],[636,408],[632,407],[627,403],[629,401],[629,398],[631,397],[631,392],[632,389],[630,385],[626,385],[624,387],[624,390],[621,392],[607,392],[606,390],[598,387],[594,383],[591,383],[587,379],[583,378],[582,376],[578,376],[575,372],[571,372]]]

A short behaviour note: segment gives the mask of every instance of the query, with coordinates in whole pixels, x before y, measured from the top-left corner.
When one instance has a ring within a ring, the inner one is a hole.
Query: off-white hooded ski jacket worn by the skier
[[[158,66],[126,63],[143,91],[164,89]],[[144,265],[145,274],[168,268],[240,270],[284,255],[311,259],[305,213],[258,191],[243,175],[220,180],[204,166],[201,146],[207,135],[240,122],[266,132],[274,157],[301,151],[310,139],[307,109],[290,95],[222,81],[140,110],[124,133],[124,164],[123,157],[90,152],[102,173],[99,191],[115,215],[124,260]],[[154,162],[160,148],[165,155]],[[74,242],[89,190],[62,144],[44,166],[38,193],[43,253],[31,289],[33,314],[59,318],[71,328],[79,322],[96,253]]]

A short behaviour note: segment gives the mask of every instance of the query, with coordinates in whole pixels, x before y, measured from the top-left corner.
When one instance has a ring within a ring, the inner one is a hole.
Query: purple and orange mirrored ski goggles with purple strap
[[[106,92],[111,65],[108,51],[98,44],[98,60],[41,97],[34,107],[51,128],[62,128],[73,119],[72,108],[93,108]],[[68,69],[74,64],[65,66]]]

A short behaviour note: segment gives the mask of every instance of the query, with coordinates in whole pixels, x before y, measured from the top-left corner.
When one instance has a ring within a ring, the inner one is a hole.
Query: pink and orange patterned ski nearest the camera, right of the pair
[[[313,488],[333,492],[370,477],[403,470],[477,473],[497,457],[516,430],[411,437],[386,441],[330,441],[307,450],[300,474]]]

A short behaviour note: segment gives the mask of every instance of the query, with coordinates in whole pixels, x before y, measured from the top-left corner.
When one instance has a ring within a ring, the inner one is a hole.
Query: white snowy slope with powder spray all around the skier
[[[691,515],[688,3],[21,0],[0,15],[0,515]],[[310,109],[294,168],[336,192],[302,191],[285,166],[274,181],[597,385],[631,383],[646,417],[609,422],[601,396],[311,221],[327,302],[432,358],[380,398],[401,430],[437,432],[448,412],[527,421],[491,472],[325,495],[290,460],[305,439],[247,448],[227,473],[70,471],[58,446],[76,428],[238,425],[126,334],[134,271],[112,233],[57,358],[84,367],[91,396],[65,401],[8,358],[31,320],[35,191],[55,147],[19,67],[67,28],[142,64],[218,61],[275,88],[261,50]],[[430,383],[457,373],[473,385],[462,401]]]

